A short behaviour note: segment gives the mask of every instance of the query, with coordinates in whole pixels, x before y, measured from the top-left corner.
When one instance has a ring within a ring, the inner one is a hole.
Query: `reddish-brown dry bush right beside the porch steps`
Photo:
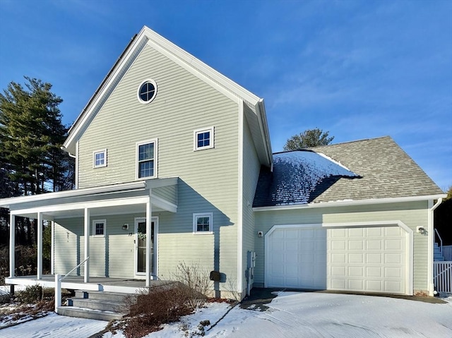
[[[123,330],[126,337],[143,337],[161,330],[161,325],[175,322],[184,315],[193,313],[191,290],[181,283],[153,286],[126,301],[130,306],[130,318]]]

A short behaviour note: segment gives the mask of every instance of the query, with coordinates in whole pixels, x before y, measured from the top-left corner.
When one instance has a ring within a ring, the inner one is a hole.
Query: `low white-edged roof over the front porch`
[[[42,195],[28,195],[0,199],[0,207],[10,209],[11,215],[44,219],[59,217],[83,217],[88,208],[91,215],[111,215],[125,212],[141,212],[150,201],[155,211],[177,211],[177,177],[152,179],[130,183],[111,184],[73,191],[59,191]],[[169,188],[165,197],[158,191]]]

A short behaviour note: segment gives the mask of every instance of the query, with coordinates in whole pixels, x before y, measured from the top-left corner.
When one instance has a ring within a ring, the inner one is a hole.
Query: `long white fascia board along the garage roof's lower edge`
[[[406,203],[406,202],[419,202],[422,200],[438,200],[439,198],[446,198],[446,194],[442,195],[424,195],[424,196],[409,196],[399,198],[375,198],[369,200],[342,200],[335,202],[323,202],[323,203],[308,203],[298,205],[275,205],[270,207],[254,207],[254,212],[259,211],[273,211],[273,210],[297,210],[297,209],[311,209],[317,207],[346,207],[354,205],[372,205],[383,203]]]

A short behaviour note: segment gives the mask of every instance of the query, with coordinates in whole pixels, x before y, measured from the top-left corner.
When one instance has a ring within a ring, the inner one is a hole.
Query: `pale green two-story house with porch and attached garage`
[[[433,291],[432,212],[445,195],[391,138],[273,155],[263,99],[147,27],[64,150],[76,190],[0,200],[11,224],[52,221],[54,273],[89,257],[73,272],[85,284],[148,286],[186,262],[213,272],[216,296],[253,285]],[[7,282],[21,284],[14,243],[11,231]],[[42,237],[34,282],[41,256]]]

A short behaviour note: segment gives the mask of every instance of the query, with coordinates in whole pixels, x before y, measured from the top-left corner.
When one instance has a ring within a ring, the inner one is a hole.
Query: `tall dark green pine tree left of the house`
[[[0,94],[0,169],[13,184],[10,195],[59,191],[73,161],[60,149],[67,128],[58,108],[63,101],[50,83],[25,77],[25,89],[11,82]],[[71,184],[69,187],[72,188]]]

